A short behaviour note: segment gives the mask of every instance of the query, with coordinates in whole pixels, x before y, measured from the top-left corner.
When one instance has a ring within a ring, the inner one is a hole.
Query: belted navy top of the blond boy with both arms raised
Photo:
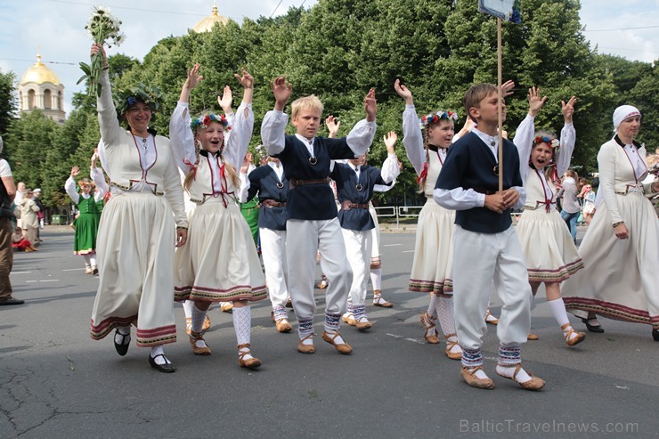
[[[295,135],[287,135],[284,150],[277,154],[290,180],[320,180],[329,177],[331,159],[354,159],[346,137],[326,139],[316,137],[313,142],[316,163],[309,162],[311,155]],[[297,186],[289,191],[286,200],[289,219],[329,220],[337,217],[337,205],[329,184],[313,183]]]

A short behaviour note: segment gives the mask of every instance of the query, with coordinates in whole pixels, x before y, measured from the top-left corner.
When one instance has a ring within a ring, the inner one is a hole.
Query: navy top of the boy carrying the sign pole
[[[519,156],[513,142],[503,139],[503,190],[513,186],[523,186],[519,175]],[[453,143],[446,155],[442,171],[435,184],[435,189],[451,191],[475,189],[476,191],[499,190],[499,177],[494,173],[497,161],[492,150],[474,133],[462,136]],[[508,230],[512,224],[508,209],[503,214],[487,207],[473,207],[468,210],[458,210],[455,213],[455,224],[465,230],[481,233],[498,233]]]

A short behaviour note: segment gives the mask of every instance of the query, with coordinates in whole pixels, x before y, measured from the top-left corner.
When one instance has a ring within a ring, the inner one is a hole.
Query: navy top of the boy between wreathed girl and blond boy
[[[282,175],[283,186],[277,187],[280,183],[274,169],[269,165],[257,167],[249,173],[249,191],[248,199],[253,199],[258,192],[259,201],[264,199],[273,199],[280,203],[286,202],[286,195],[289,192],[289,181],[286,175]],[[268,207],[261,206],[258,214],[258,226],[270,230],[286,230],[286,207]]]

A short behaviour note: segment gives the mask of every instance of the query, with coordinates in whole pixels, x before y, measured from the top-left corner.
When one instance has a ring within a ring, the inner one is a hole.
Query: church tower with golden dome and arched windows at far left
[[[37,54],[37,63],[23,73],[19,83],[20,112],[35,109],[43,111],[45,117],[58,124],[63,124],[66,118],[64,85],[53,70],[41,62],[41,54]]]

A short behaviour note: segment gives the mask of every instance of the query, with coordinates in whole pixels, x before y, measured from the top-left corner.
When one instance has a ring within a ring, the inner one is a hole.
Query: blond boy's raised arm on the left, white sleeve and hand
[[[293,86],[286,82],[286,77],[275,77],[270,88],[274,94],[274,110],[265,114],[261,124],[261,139],[268,154],[274,156],[284,150],[289,117],[283,110],[289,102]]]

